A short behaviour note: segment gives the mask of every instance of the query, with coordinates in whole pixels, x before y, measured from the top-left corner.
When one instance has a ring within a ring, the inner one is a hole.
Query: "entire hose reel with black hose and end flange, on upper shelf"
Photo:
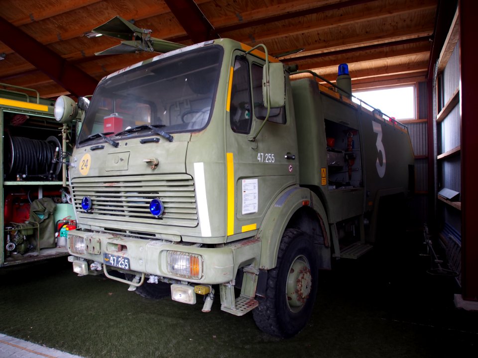
[[[50,136],[46,140],[5,135],[4,172],[8,178],[57,179],[62,152],[60,141]]]

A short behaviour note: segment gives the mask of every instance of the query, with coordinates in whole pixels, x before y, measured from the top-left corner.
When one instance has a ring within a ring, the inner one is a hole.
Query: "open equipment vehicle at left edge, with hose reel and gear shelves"
[[[0,84],[0,267],[68,255],[55,222],[74,221],[64,163],[75,126],[32,92]]]

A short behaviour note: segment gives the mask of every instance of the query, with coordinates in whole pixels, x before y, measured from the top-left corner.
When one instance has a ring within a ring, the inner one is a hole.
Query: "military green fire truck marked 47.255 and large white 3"
[[[219,286],[222,310],[290,337],[319,270],[366,252],[380,202],[411,189],[413,152],[405,126],[350,99],[345,66],[326,87],[259,48],[178,45],[100,82],[70,160],[69,260],[147,297],[203,295],[205,312]]]

